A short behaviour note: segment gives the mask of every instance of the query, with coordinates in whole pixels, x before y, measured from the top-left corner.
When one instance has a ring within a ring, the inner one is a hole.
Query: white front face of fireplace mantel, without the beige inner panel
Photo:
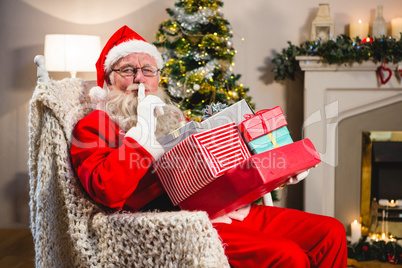
[[[379,63],[328,64],[320,57],[299,56],[304,71],[303,137],[309,138],[322,163],[305,180],[307,212],[335,215],[335,167],[338,163],[338,124],[351,116],[402,101],[402,81],[397,64],[387,64],[391,79],[382,85]],[[400,63],[402,66],[402,63]]]

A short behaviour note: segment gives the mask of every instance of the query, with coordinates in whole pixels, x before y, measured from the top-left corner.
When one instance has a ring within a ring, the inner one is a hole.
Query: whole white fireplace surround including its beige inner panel
[[[402,131],[402,116],[397,116],[402,83],[393,75],[382,85],[375,62],[329,65],[319,57],[297,59],[305,76],[303,137],[322,158],[304,182],[304,208],[348,227],[361,220],[362,132]],[[395,71],[397,65],[388,67]]]

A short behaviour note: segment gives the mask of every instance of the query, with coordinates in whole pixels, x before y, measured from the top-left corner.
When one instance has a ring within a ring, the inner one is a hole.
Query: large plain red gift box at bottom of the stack
[[[183,210],[202,210],[211,219],[241,208],[320,163],[309,139],[256,154],[180,203]]]

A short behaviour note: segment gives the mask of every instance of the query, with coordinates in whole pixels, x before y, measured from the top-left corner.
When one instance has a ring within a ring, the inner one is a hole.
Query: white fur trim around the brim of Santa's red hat
[[[129,40],[113,47],[109,51],[103,65],[105,72],[111,72],[113,64],[133,53],[148,54],[155,59],[158,69],[163,67],[162,56],[154,45],[141,40]]]

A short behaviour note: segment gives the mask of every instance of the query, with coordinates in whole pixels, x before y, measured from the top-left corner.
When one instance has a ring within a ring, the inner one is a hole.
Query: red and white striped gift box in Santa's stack
[[[176,206],[250,156],[235,123],[229,123],[192,134],[164,154],[154,168]]]

